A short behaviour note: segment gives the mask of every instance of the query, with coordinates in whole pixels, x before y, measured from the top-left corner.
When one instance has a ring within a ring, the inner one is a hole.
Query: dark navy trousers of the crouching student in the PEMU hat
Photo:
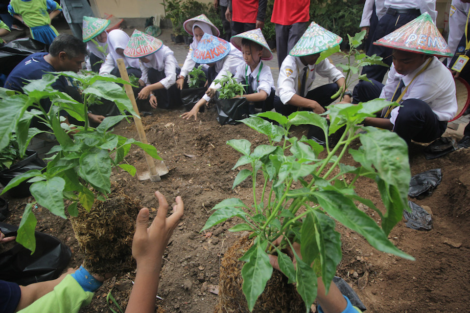
[[[353,103],[366,102],[380,96],[383,85],[361,81],[353,91]],[[406,99],[395,120],[393,131],[406,142],[430,142],[439,138],[447,128],[446,121],[439,121],[431,108],[420,99]]]

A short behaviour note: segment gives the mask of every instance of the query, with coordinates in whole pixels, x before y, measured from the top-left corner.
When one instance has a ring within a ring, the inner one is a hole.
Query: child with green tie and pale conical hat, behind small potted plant
[[[274,79],[271,68],[264,65],[262,60],[271,60],[273,54],[261,30],[257,28],[235,35],[230,42],[241,51],[245,61],[245,64],[236,68],[235,79],[247,85],[242,97],[253,103],[249,106],[250,113],[271,111],[275,93]]]

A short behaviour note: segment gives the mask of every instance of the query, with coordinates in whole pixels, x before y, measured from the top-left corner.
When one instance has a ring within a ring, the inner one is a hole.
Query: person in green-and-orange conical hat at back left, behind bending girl
[[[90,52],[85,63],[87,70],[98,72],[101,65],[106,60],[108,49],[108,27],[110,21],[104,19],[93,18],[90,16],[83,17],[83,42],[87,43],[87,49]]]

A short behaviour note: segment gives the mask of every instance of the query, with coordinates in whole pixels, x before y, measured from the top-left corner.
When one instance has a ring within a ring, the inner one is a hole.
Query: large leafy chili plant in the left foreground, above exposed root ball
[[[83,103],[51,87],[60,75],[79,82],[78,85],[83,88]],[[124,111],[137,116],[118,84],[128,83],[112,75],[60,72],[45,74],[42,79],[31,81],[24,86],[24,94],[0,89],[0,110],[3,112],[0,120],[0,150],[8,145],[12,133],[16,134],[20,157],[24,156],[29,140],[36,134],[53,134],[59,143],[48,152],[51,156],[44,171],[30,170],[12,179],[2,192],[5,193],[24,180],[32,183],[29,190],[35,201],[26,205],[16,239],[32,252],[36,247],[34,228],[37,220],[32,212],[36,202],[51,213],[67,218],[64,201],[68,201],[69,214],[77,216],[79,203],[89,211],[95,199],[105,200],[111,192],[110,176],[113,168],[135,175],[136,169],[123,163],[132,144],[160,159],[155,147],[111,133],[111,128],[126,118]],[[96,97],[113,101],[122,115],[106,117],[99,126],[91,127],[87,104]],[[51,105],[41,105],[44,101]],[[82,125],[69,126],[63,123],[65,117],[61,111],[66,111]],[[33,117],[39,119],[47,130],[29,128]]]

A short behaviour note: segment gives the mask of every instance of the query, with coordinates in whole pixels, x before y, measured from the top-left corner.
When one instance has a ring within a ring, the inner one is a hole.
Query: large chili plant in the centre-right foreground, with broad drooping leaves
[[[408,209],[407,145],[397,134],[387,130],[363,127],[365,133],[357,134],[360,128],[357,124],[388,105],[384,100],[372,100],[358,105],[329,106],[325,114],[329,114],[330,126],[326,118],[313,112],[299,111],[288,117],[276,112],[258,113],[241,122],[265,134],[269,144],[253,149],[246,139],[227,141],[242,154],[233,169],[248,166],[237,174],[233,187],[250,179],[253,202],[231,198],[216,204],[203,230],[238,217],[242,222],[229,230],[253,232],[254,244],[240,259],[246,262],[241,270],[242,289],[250,310],[273,271],[268,254],[278,256],[281,271],[289,282],[297,283],[306,308],[310,308],[316,298],[317,277],[322,277],[329,290],[342,258],[335,221],[364,236],[379,251],[413,259],[387,238],[401,220],[403,210]],[[265,118],[276,121],[279,126]],[[298,139],[289,135],[290,128],[298,125],[315,125],[325,134],[332,134],[343,126],[345,131],[333,148],[327,145],[326,155],[321,158],[322,146],[305,136]],[[357,138],[362,145],[358,149],[349,148]],[[359,166],[341,163],[347,152]],[[376,181],[386,209],[384,213],[373,201],[355,192],[354,184],[359,178]],[[381,226],[358,209],[356,203],[375,210],[381,218]],[[281,236],[281,244],[273,245]],[[294,242],[301,245],[302,259],[295,255],[297,267],[284,253]]]

